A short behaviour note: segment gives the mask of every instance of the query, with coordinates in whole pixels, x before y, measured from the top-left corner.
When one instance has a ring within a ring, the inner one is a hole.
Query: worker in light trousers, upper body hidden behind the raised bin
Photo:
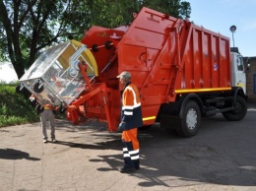
[[[31,96],[30,97],[31,101],[33,104],[36,104],[36,97]],[[39,111],[40,114],[40,124],[41,124],[41,132],[42,132],[42,141],[43,143],[48,142],[48,137],[47,137],[47,132],[46,132],[46,122],[49,121],[50,123],[50,137],[51,141],[53,143],[56,143],[57,140],[55,138],[55,117],[53,113],[53,103],[50,100],[49,97],[44,97],[42,98],[42,105],[37,104],[36,105],[36,110]],[[39,108],[38,108],[39,107]]]

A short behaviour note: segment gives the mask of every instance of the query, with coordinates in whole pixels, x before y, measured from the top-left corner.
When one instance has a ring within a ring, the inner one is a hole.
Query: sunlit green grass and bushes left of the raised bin
[[[16,93],[16,84],[0,84],[0,127],[38,122],[29,98]]]

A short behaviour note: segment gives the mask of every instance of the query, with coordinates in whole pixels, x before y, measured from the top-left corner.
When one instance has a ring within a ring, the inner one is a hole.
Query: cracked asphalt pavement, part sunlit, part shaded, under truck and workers
[[[120,133],[105,124],[56,120],[57,144],[43,144],[39,123],[0,129],[0,190],[256,190],[256,108],[242,121],[203,118],[195,137],[158,124],[139,132],[141,169],[123,174]],[[49,133],[49,131],[48,131]]]

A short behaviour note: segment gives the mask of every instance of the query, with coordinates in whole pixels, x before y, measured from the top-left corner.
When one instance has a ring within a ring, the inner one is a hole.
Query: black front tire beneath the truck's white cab
[[[243,97],[236,96],[234,102],[234,110],[223,112],[224,118],[228,121],[239,121],[244,118],[247,113],[247,104]]]

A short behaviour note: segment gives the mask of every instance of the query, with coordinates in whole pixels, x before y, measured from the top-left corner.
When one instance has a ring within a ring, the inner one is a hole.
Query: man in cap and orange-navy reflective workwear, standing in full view
[[[121,91],[121,122],[124,166],[122,173],[134,172],[140,168],[140,145],[137,139],[138,127],[143,126],[141,99],[137,87],[131,83],[131,74],[122,72],[117,76],[123,86]]]

